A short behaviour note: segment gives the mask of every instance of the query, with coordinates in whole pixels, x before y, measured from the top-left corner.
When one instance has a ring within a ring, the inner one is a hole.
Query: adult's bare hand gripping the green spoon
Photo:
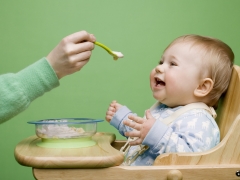
[[[90,59],[96,38],[86,31],[76,32],[61,40],[47,60],[58,79],[79,71]]]

